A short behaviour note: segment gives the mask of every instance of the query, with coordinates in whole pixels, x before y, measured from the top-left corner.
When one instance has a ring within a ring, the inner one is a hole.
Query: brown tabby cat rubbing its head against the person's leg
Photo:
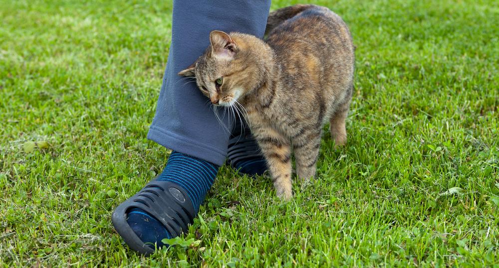
[[[265,35],[212,31],[206,52],[179,75],[195,77],[214,105],[246,109],[276,194],[289,199],[291,150],[306,182],[315,176],[327,121],[335,145],[346,142],[355,48],[341,17],[317,5],[271,12]]]

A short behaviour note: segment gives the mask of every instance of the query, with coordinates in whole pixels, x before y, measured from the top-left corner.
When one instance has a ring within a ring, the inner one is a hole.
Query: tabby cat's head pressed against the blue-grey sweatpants
[[[260,86],[266,73],[261,47],[263,42],[252,35],[212,31],[205,53],[179,75],[195,77],[213,104],[231,106]]]

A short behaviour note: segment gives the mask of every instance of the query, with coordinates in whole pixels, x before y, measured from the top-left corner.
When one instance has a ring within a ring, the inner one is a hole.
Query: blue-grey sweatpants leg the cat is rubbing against
[[[226,128],[232,129],[234,120],[226,116],[222,126],[208,98],[177,73],[205,51],[212,30],[262,37],[269,8],[270,0],[173,1],[172,43],[149,139],[217,165],[224,163],[230,136]]]

